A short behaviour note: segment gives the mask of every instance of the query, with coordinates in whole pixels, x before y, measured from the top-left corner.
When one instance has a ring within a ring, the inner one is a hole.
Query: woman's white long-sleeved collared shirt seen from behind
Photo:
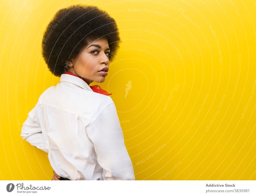
[[[135,180],[111,97],[69,74],[45,90],[21,135],[48,153],[52,169],[70,180]]]

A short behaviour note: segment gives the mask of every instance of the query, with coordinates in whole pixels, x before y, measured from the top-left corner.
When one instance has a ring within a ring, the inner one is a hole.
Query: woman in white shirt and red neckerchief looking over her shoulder
[[[42,56],[60,83],[45,90],[21,136],[48,153],[53,180],[135,180],[116,106],[104,82],[119,48],[116,21],[96,6],[56,12]]]

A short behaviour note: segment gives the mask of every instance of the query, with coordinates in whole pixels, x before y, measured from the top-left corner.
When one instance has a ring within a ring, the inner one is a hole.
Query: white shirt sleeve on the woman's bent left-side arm
[[[36,105],[29,113],[27,120],[23,123],[21,128],[20,136],[23,137],[31,145],[36,146],[37,148],[43,150],[44,152],[49,152],[49,144],[46,142],[46,139],[42,133],[37,114],[36,114]]]

